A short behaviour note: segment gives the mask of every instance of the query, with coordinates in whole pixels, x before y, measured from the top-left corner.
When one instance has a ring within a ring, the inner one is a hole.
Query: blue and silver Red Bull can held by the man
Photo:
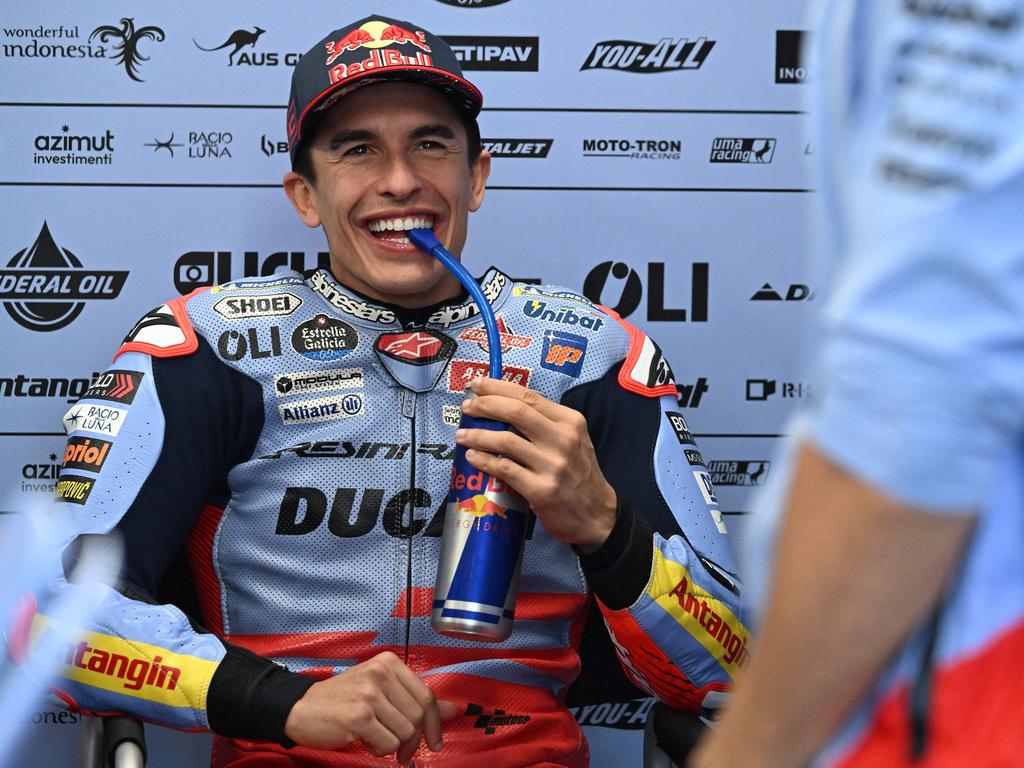
[[[509,428],[465,414],[459,426]],[[496,643],[509,636],[531,514],[522,497],[466,461],[465,446],[456,445],[430,614],[438,634]]]

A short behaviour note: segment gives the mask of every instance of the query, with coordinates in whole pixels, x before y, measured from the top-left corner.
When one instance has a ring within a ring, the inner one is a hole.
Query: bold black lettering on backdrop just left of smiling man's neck
[[[328,268],[330,265],[330,253],[321,251],[316,254],[316,267]],[[242,254],[242,268],[238,269],[237,266],[238,264],[232,267],[231,251],[187,251],[174,262],[174,288],[182,296],[197,288],[215,284],[225,284],[220,286],[222,291],[276,288],[282,285],[299,284],[302,280],[289,278],[285,283],[255,284],[246,284],[243,281],[238,282],[233,289],[229,284],[240,278],[267,276],[282,267],[296,272],[304,272],[309,268],[306,264],[306,254],[302,251],[274,251],[263,257],[260,257],[258,251],[245,251]]]

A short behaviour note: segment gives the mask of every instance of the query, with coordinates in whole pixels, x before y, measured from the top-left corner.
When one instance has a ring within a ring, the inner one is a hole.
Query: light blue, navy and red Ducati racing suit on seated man
[[[478,308],[460,296],[403,310],[326,270],[279,274],[158,307],[65,417],[56,507],[78,535],[117,528],[126,565],[69,649],[61,695],[210,729],[215,765],[384,765],[361,743],[295,746],[284,726],[315,680],[391,650],[460,708],[444,752],[421,748],[417,766],[478,765],[483,751],[495,768],[584,766],[564,696],[593,594],[633,683],[715,703],[749,635],[667,361],[579,294],[496,269],[481,287],[504,377],[587,417],[618,497],[592,555],[531,527],[507,641],[430,627],[454,431],[487,369]],[[201,620],[160,604],[179,573]]]

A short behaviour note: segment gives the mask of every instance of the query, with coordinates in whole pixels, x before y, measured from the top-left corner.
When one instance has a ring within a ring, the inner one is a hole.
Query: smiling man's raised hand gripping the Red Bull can
[[[595,552],[615,524],[615,492],[601,473],[583,414],[530,389],[476,379],[463,411],[511,424],[518,432],[460,429],[466,459],[526,500],[556,539]]]

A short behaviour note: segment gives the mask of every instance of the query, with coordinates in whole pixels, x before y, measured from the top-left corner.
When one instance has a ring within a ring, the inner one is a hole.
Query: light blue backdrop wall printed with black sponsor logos
[[[795,344],[814,299],[805,5],[11,5],[0,19],[3,512],[53,494],[61,418],[145,312],[198,286],[327,263],[322,233],[280,186],[289,77],[312,41],[378,10],[445,37],[483,90],[494,171],[464,261],[582,290],[650,333],[675,371],[681,428],[741,527],[786,415],[811,394]],[[97,461],[100,442],[72,446],[69,466]],[[639,763],[649,706],[577,711],[595,766]],[[73,764],[79,718],[57,712],[40,703],[16,765]],[[152,765],[205,760],[208,736],[148,730]]]

